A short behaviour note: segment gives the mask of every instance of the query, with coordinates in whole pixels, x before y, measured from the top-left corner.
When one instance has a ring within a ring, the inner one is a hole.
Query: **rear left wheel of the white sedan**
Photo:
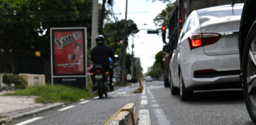
[[[180,96],[181,96],[181,101],[188,101],[192,99],[192,94],[193,92],[186,89],[183,81],[183,77],[180,71]]]

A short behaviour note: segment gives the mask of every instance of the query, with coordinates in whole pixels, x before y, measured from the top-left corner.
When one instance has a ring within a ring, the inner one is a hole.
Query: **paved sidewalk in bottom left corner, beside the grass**
[[[8,91],[10,93],[12,91]],[[0,125],[12,119],[34,115],[40,111],[60,107],[64,103],[35,103],[36,96],[2,96],[7,91],[0,92]]]

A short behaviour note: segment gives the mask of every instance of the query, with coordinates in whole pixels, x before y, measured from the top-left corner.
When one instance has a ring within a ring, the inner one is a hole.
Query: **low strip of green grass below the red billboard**
[[[77,102],[82,98],[88,99],[94,97],[89,91],[63,85],[32,86],[7,95],[39,96],[35,100],[36,103]]]

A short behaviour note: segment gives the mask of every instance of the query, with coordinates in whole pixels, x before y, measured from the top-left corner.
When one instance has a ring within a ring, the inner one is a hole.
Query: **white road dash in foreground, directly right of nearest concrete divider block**
[[[151,125],[149,110],[139,110],[139,121],[137,125]]]

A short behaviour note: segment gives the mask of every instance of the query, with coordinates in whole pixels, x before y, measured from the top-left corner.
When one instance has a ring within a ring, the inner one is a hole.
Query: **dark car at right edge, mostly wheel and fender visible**
[[[241,82],[248,114],[256,124],[256,0],[245,0],[241,22],[239,52]]]

